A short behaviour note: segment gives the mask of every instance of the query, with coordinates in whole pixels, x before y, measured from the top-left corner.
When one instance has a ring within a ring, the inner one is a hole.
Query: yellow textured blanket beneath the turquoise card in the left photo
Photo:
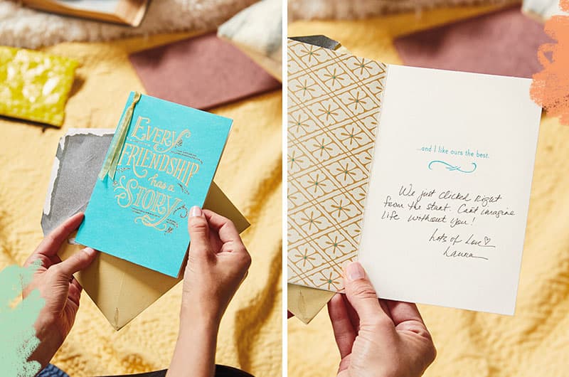
[[[78,60],[81,67],[62,129],[0,119],[0,269],[23,263],[42,238],[41,211],[65,130],[114,128],[129,92],[144,92],[127,54],[187,36],[63,43],[45,49]],[[282,366],[281,104],[277,90],[213,110],[234,120],[216,183],[252,224],[243,233],[251,269],[223,317],[216,361],[255,376],[280,376]],[[115,331],[83,294],[75,326],[53,363],[71,376],[166,368],[178,332],[180,302],[177,285]]]

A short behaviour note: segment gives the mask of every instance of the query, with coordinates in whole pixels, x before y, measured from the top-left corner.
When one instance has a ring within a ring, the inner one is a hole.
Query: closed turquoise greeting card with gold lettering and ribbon
[[[233,121],[131,92],[76,240],[177,277]]]

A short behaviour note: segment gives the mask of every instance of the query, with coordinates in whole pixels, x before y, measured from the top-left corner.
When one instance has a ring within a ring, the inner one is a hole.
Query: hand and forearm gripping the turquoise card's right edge
[[[221,317],[247,276],[251,257],[235,225],[193,207],[180,330],[167,376],[213,377]]]

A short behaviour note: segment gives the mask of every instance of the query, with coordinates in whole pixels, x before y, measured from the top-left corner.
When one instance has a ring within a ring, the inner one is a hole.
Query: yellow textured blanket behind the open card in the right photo
[[[324,34],[356,55],[400,64],[395,36],[487,11],[440,9],[364,21],[300,21],[289,36]],[[438,356],[425,376],[568,376],[569,127],[543,117],[514,317],[421,305]],[[288,322],[290,377],[335,376],[339,354],[326,310]]]

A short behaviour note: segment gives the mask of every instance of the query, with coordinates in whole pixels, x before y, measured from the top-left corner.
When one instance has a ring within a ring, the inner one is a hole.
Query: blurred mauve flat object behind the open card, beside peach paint
[[[531,78],[536,51],[552,40],[519,5],[395,38],[405,65]]]

